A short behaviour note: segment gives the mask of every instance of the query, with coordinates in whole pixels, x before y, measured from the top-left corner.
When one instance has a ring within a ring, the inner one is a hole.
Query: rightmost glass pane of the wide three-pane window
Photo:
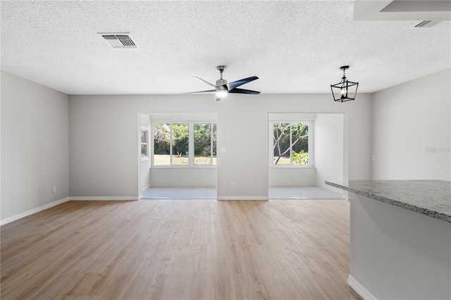
[[[211,165],[211,124],[194,124],[194,164]]]

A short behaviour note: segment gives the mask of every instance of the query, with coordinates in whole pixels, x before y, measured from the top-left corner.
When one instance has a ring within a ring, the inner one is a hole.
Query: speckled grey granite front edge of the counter
[[[404,203],[404,202],[401,202],[401,201],[397,201],[395,199],[388,199],[388,198],[385,198],[383,196],[378,196],[376,194],[365,192],[365,191],[362,191],[362,190],[359,190],[359,189],[352,189],[351,187],[347,187],[345,185],[338,185],[338,184],[336,184],[334,182],[330,182],[330,181],[327,181],[327,180],[326,180],[326,185],[330,185],[332,187],[337,187],[338,189],[344,189],[347,192],[352,192],[354,194],[366,196],[368,198],[375,199],[377,201],[381,201],[381,202],[384,202],[386,204],[391,204],[393,206],[399,206],[399,207],[408,209],[409,211],[415,211],[416,213],[421,213],[422,215],[428,215],[429,217],[436,218],[438,220],[444,220],[446,222],[451,223],[451,215],[446,215],[444,213],[438,213],[437,211],[431,211],[428,208],[422,208],[422,207],[415,206],[415,205],[412,205],[412,204],[407,204],[407,203]]]

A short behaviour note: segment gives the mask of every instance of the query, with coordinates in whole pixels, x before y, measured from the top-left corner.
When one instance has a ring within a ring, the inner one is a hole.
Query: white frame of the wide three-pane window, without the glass
[[[154,125],[155,124],[169,124],[170,125],[170,139],[171,142],[169,143],[169,152],[172,154],[172,137],[173,137],[173,132],[172,132],[172,125],[173,124],[187,124],[188,125],[188,163],[187,165],[173,165],[172,164],[172,155],[170,154],[170,164],[169,165],[155,165],[154,163]],[[151,165],[153,168],[216,168],[216,165],[213,164],[213,139],[210,139],[210,144],[211,144],[211,153],[210,153],[210,158],[211,158],[211,164],[210,165],[201,165],[201,164],[195,164],[194,163],[194,124],[210,124],[210,130],[211,130],[211,136],[213,136],[213,125],[216,125],[216,135],[217,135],[217,130],[218,130],[218,123],[216,122],[212,122],[212,121],[183,121],[183,120],[177,120],[177,121],[152,121],[151,122],[151,128],[152,130],[150,130],[151,133],[151,137],[150,137],[150,141],[152,143],[152,151],[151,151],[151,155],[150,155],[150,159],[151,159]],[[217,143],[216,143],[217,146]],[[218,150],[216,149],[216,160],[217,158],[217,153]]]

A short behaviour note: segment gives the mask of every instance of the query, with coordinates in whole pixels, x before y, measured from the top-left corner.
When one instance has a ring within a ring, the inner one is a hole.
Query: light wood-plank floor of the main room
[[[360,299],[346,200],[69,201],[1,227],[1,299]]]

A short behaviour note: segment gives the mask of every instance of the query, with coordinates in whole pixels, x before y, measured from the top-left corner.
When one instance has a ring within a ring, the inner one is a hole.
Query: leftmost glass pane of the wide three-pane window
[[[154,124],[154,165],[171,164],[171,125]]]

